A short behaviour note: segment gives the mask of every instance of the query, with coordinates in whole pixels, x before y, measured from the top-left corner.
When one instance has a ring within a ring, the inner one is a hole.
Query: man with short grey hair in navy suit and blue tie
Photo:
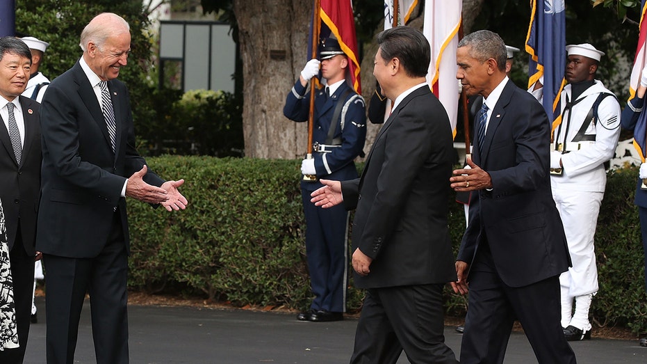
[[[550,192],[550,122],[509,81],[505,58],[491,31],[458,45],[457,78],[468,95],[484,97],[471,169],[450,178],[454,190],[475,191],[452,283],[455,292],[466,293],[467,283],[470,291],[461,363],[502,363],[515,319],[539,363],[575,363],[559,323],[559,274],[570,258]]]

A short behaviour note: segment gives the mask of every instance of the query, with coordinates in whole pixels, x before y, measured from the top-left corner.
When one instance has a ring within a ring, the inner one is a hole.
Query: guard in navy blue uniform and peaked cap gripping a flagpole
[[[320,178],[352,180],[357,178],[353,163],[363,154],[366,139],[366,106],[361,95],[346,83],[349,60],[337,40],[325,38],[319,45],[320,60],[306,63],[286,97],[284,115],[293,121],[308,120],[310,79],[321,76],[324,88],[316,91],[313,111],[313,154],[304,159],[301,171],[315,175],[316,181],[301,183],[306,217],[306,258],[314,299],[310,310],[297,319],[311,322],[343,319],[346,310],[347,225],[349,213],[338,205],[322,209],[310,203],[310,193],[322,184]],[[314,80],[313,80],[314,81]]]

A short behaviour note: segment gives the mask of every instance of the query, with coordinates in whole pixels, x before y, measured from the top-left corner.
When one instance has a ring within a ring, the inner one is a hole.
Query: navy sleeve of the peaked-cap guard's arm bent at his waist
[[[341,147],[334,148],[329,153],[313,155],[317,176],[329,175],[347,166],[357,157],[366,141],[366,106],[360,95],[353,95],[344,104],[343,130],[341,131]]]

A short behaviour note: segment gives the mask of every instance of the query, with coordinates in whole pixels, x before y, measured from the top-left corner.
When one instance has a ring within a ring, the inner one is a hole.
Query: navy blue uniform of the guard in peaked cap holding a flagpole
[[[346,93],[349,88],[344,83],[329,97],[323,89],[317,91],[313,143],[327,144],[331,122],[336,124],[334,139],[341,141],[338,147],[331,148],[331,152],[313,153],[318,179],[343,181],[357,178],[353,159],[361,153],[366,140],[366,107],[354,90]],[[296,122],[308,120],[310,100],[304,95],[306,87],[297,81],[288,93],[283,109],[288,119]],[[347,96],[341,100],[343,95]],[[343,102],[344,107],[338,120],[331,120],[339,102]],[[322,209],[311,203],[310,193],[319,187],[322,184],[318,181],[301,183],[307,225],[306,257],[315,295],[311,310],[345,312],[348,212],[343,206]]]

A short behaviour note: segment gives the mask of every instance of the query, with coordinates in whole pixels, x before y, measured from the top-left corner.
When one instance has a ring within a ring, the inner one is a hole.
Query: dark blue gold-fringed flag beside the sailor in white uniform
[[[566,16],[564,0],[530,0],[525,50],[530,54],[528,88],[543,76],[543,109],[555,129],[562,122],[560,94],[566,84]]]

